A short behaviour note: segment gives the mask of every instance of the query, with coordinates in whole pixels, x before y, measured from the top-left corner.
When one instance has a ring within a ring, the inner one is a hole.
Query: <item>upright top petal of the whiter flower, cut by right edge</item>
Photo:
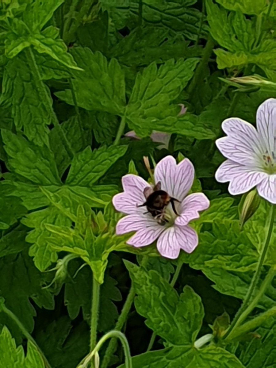
[[[257,130],[263,146],[276,154],[276,99],[265,100],[257,110]],[[265,152],[263,152],[265,153]]]

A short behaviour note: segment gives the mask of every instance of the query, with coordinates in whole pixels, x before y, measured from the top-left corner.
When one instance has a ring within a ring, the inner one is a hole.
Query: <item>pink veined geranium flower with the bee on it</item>
[[[187,195],[194,181],[194,166],[188,159],[176,164],[172,156],[166,156],[156,165],[154,178],[155,183],[160,181],[162,190],[179,201],[174,201],[179,216],[169,204],[165,209],[169,222],[160,224],[151,213],[145,213],[145,207],[137,207],[145,202],[144,190],[150,185],[137,175],[127,174],[122,178],[124,192],[113,197],[114,207],[127,214],[118,221],[116,233],[136,231],[127,241],[134,247],[145,247],[157,239],[159,253],[167,258],[177,258],[180,249],[191,253],[198,245],[198,235],[188,223],[209,207],[203,193]]]

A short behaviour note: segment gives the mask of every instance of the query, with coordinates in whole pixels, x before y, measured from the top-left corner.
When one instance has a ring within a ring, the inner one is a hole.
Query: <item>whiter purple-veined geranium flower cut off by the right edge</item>
[[[256,186],[261,197],[276,204],[276,99],[257,110],[257,130],[247,121],[229,118],[222,129],[227,137],[216,145],[227,158],[216,171],[216,180],[230,181],[230,194],[242,194]]]

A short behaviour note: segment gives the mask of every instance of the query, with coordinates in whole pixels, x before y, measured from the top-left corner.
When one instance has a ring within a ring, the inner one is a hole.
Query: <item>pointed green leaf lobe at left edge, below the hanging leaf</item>
[[[1,129],[1,134],[15,173],[36,184],[61,184],[54,155],[47,146],[37,146],[5,129]]]

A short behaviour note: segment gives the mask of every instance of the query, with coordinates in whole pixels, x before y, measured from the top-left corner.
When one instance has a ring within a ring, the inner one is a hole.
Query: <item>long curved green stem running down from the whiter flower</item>
[[[249,303],[251,302],[252,295],[254,294],[256,286],[259,282],[263,262],[265,260],[266,252],[268,250],[269,242],[272,236],[273,224],[274,224],[274,218],[275,218],[275,209],[276,209],[276,206],[272,205],[272,208],[270,210],[270,216],[268,219],[269,220],[268,233],[266,236],[265,244],[263,246],[263,249],[261,251],[261,254],[258,260],[256,272],[254,273],[254,276],[252,277],[252,280],[251,280],[249,289],[247,291],[247,294],[245,296],[245,299],[243,301],[243,304],[241,305],[236,316],[234,317],[229,329],[226,331],[225,335],[223,336],[223,339],[230,337],[230,335],[233,333],[232,331],[234,331],[234,329],[236,329],[237,326],[240,325],[241,322],[243,322],[244,318],[246,318],[247,315],[245,315],[245,311],[247,310],[247,308],[248,307],[251,308],[251,304]],[[258,293],[258,294],[259,294],[259,297],[261,297],[261,293]],[[254,299],[254,302],[257,302],[257,301]]]

